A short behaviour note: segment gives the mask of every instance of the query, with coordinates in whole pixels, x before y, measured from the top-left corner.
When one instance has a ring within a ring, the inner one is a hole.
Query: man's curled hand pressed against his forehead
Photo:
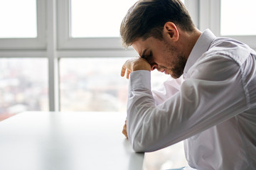
[[[151,66],[145,59],[141,57],[132,58],[124,62],[121,76],[124,77],[125,72],[127,72],[127,79],[129,79],[129,74],[136,70],[148,70],[150,72]]]

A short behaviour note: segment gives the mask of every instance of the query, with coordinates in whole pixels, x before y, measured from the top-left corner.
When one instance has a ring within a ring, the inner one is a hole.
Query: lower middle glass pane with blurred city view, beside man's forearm
[[[127,58],[60,60],[61,111],[126,111],[128,80],[120,77]],[[152,86],[169,77],[152,72]],[[154,87],[153,87],[154,88]]]

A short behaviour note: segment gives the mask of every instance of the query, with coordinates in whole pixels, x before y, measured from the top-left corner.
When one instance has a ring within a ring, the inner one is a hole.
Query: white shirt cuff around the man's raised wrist
[[[137,70],[129,74],[129,89],[149,89],[151,91],[151,74],[147,70]]]

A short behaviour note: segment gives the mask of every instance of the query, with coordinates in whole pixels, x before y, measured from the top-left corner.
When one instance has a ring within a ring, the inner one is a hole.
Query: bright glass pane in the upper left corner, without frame
[[[36,0],[0,0],[0,38],[36,38]]]

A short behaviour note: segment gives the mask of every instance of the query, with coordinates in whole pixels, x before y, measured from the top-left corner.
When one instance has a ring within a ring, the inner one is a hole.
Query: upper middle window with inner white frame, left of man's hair
[[[122,49],[119,26],[135,0],[58,1],[59,49]],[[118,8],[117,8],[118,6]]]

